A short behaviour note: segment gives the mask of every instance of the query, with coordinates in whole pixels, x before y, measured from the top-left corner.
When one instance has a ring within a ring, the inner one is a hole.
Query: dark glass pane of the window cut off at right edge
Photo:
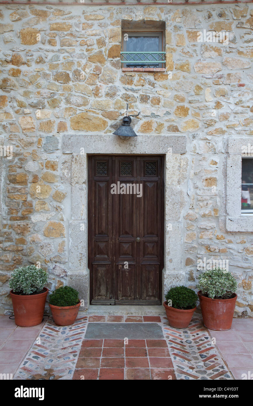
[[[242,211],[253,209],[253,159],[242,159]]]

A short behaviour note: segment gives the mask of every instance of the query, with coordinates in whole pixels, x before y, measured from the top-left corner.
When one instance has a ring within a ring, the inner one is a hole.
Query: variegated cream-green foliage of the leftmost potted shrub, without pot
[[[48,281],[48,272],[35,265],[15,269],[9,280],[9,287],[19,295],[40,293]]]

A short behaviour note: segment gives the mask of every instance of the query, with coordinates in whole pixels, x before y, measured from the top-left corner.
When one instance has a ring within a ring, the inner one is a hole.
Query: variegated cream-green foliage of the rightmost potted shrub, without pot
[[[229,299],[236,292],[237,282],[231,272],[210,269],[198,276],[197,288],[211,299]]]

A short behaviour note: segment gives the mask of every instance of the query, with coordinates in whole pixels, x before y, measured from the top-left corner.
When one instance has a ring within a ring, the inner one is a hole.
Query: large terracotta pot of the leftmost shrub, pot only
[[[11,289],[10,294],[17,326],[31,327],[42,322],[48,294],[46,287],[44,287],[42,293],[37,295],[17,295],[13,292],[13,289]]]

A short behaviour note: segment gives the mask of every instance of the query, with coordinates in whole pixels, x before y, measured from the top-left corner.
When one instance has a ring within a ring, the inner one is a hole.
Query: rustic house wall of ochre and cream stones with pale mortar
[[[121,70],[121,22],[133,20],[166,23],[166,71]],[[228,43],[198,42],[204,29],[229,32]],[[140,137],[187,137],[187,153],[167,167],[167,187],[182,194],[183,266],[171,275],[183,272],[195,288],[198,258],[228,259],[236,315],[252,316],[253,236],[225,226],[227,140],[253,135],[252,30],[251,4],[2,6],[0,145],[13,158],[0,157],[0,313],[11,311],[8,279],[21,265],[39,261],[50,290],[67,283],[71,154],[62,136],[109,135],[129,103],[141,112],[132,120]]]

